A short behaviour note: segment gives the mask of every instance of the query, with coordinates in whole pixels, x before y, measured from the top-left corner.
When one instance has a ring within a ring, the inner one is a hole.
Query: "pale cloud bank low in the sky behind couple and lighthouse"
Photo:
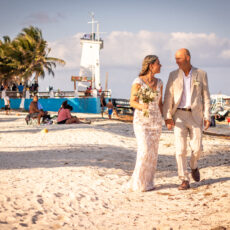
[[[81,58],[78,33],[71,38],[50,43],[51,56],[66,61],[64,68],[79,68]],[[104,36],[104,49],[101,50],[101,64],[104,67],[137,68],[148,54],[159,56],[163,66],[175,65],[174,53],[179,48],[188,48],[196,66],[229,66],[230,39],[219,38],[214,33],[158,33],[139,31],[113,31]],[[63,68],[63,67],[62,67]]]

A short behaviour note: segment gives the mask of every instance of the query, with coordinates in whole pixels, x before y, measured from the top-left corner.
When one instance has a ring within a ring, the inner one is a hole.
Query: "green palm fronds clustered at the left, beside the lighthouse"
[[[12,80],[16,77],[18,82],[26,82],[35,74],[45,77],[45,72],[54,76],[53,68],[56,63],[65,64],[59,58],[49,57],[51,49],[42,37],[40,29],[30,26],[11,41],[8,36],[0,40],[0,78]]]

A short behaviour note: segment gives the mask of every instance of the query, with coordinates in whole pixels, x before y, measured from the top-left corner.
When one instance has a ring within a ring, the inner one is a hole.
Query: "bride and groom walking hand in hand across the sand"
[[[174,130],[179,190],[190,188],[187,170],[187,137],[190,137],[190,168],[194,181],[200,181],[198,159],[202,151],[202,131],[210,126],[210,93],[207,73],[191,65],[188,49],[175,54],[178,69],[169,74],[162,101],[163,82],[155,75],[160,73],[160,60],[155,55],[144,58],[139,77],[132,84],[130,105],[135,108],[133,126],[137,139],[137,158],[134,172],[128,182],[132,191],[154,189],[158,146],[162,130],[162,116],[169,130]],[[140,88],[155,92],[155,100],[143,103],[137,96]],[[144,116],[145,110],[149,116]]]

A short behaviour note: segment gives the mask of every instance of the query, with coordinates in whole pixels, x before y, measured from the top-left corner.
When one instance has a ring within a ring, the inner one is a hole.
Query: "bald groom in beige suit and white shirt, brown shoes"
[[[164,119],[169,130],[174,128],[179,190],[190,188],[187,171],[187,136],[190,137],[192,178],[200,181],[197,165],[202,151],[202,128],[210,126],[210,94],[207,74],[191,65],[190,52],[180,49],[175,55],[179,69],[169,75],[164,97]]]

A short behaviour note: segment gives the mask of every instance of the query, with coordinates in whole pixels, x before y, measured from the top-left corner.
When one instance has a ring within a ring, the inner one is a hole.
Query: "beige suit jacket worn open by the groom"
[[[173,119],[182,98],[183,84],[183,71],[181,69],[169,74],[163,105],[165,120]],[[202,125],[203,119],[210,120],[210,101],[207,73],[192,67],[191,109],[197,124]]]

